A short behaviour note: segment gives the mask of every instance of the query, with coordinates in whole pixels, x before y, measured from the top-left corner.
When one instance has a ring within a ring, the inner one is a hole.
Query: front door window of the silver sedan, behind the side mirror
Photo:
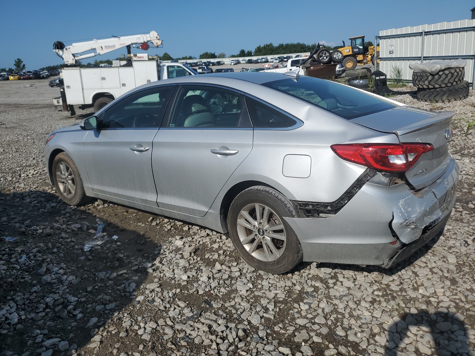
[[[123,98],[104,112],[101,129],[160,127],[171,90],[159,86]]]

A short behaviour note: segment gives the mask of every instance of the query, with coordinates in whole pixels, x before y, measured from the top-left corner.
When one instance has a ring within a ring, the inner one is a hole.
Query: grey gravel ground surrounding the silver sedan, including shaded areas
[[[394,98],[456,112],[461,176],[443,234],[390,270],[301,263],[285,275],[254,270],[200,226],[61,203],[43,141],[78,119],[53,109],[57,95],[47,81],[0,82],[1,356],[475,355],[473,93]],[[85,251],[90,241],[102,243]]]

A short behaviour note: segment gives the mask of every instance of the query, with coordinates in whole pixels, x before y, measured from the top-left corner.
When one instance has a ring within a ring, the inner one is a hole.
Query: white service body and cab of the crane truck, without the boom
[[[61,96],[54,98],[53,104],[58,111],[68,110],[71,115],[76,114],[73,105],[80,105],[80,109],[94,107],[98,111],[137,86],[186,75],[198,73],[181,63],[159,63],[147,55],[140,59],[134,57],[132,62],[118,67],[65,67],[60,75],[64,87],[60,88]]]

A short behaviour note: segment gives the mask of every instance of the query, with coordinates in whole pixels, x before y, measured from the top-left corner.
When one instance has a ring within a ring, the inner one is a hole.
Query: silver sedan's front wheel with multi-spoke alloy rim
[[[59,153],[53,161],[53,182],[59,197],[68,205],[84,205],[91,199],[86,196],[81,175],[66,152]]]

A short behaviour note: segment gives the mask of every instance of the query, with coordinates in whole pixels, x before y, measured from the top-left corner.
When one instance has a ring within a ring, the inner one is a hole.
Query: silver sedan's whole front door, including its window
[[[152,174],[152,141],[172,86],[144,89],[124,97],[88,131],[84,161],[95,193],[156,206]]]

